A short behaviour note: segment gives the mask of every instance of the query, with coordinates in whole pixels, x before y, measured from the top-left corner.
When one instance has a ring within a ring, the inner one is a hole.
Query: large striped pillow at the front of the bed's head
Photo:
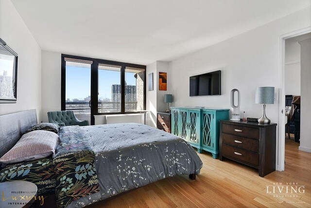
[[[9,164],[54,156],[58,134],[49,131],[25,133],[16,145],[0,158],[0,163]]]

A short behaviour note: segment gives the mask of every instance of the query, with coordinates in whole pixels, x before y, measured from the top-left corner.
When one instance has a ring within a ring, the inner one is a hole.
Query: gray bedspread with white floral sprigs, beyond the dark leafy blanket
[[[174,175],[200,173],[202,161],[183,139],[150,126],[81,127],[93,145],[100,191],[73,201],[84,207]]]

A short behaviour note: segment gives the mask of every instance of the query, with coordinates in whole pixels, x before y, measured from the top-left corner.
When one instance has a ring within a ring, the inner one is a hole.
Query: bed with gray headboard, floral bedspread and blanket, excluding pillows
[[[35,110],[0,116],[0,156],[35,124]],[[7,165],[0,182],[31,181],[39,194],[55,193],[57,207],[80,208],[166,177],[195,179],[201,168],[187,142],[150,126],[69,126],[59,131],[54,158]]]

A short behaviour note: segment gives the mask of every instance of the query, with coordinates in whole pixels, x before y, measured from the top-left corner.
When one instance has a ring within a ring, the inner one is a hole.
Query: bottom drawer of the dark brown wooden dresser
[[[259,167],[259,154],[251,151],[242,150],[240,148],[222,145],[222,154],[232,160],[244,163],[254,168]]]

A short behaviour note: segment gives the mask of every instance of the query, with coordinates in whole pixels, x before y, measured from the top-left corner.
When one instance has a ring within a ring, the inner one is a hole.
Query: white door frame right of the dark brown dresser
[[[311,27],[300,29],[279,37],[280,46],[280,67],[279,67],[279,113],[278,113],[278,150],[276,170],[285,170],[285,40],[296,36],[311,33]]]

